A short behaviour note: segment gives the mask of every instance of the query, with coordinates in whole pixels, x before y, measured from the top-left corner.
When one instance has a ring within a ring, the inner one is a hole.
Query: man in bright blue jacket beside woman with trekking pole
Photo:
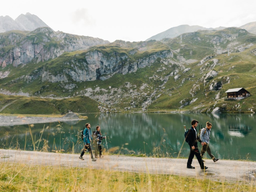
[[[91,154],[92,161],[96,161],[96,159],[93,158],[92,148],[91,148],[91,141],[92,141],[91,125],[90,123],[86,123],[85,126],[86,126],[86,129],[84,129],[83,131],[84,150],[82,151],[79,158],[81,160],[84,160],[83,154],[86,150],[88,150],[89,153]]]

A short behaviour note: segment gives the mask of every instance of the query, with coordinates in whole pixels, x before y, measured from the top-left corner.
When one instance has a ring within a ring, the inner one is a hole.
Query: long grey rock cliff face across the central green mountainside
[[[70,78],[76,82],[94,81],[96,79],[105,80],[116,73],[136,72],[139,68],[151,66],[157,59],[172,57],[173,53],[170,50],[156,52],[137,60],[133,60],[133,58],[124,53],[118,54],[114,52],[111,56],[107,56],[100,51],[88,51],[83,61],[77,62],[77,59],[73,58],[66,63],[69,68],[63,68],[57,74],[56,71],[52,72],[52,69],[49,69],[48,65],[46,65],[41,70],[34,71],[32,76],[26,76],[25,79],[28,81],[41,76],[42,81],[51,83],[68,82]]]

